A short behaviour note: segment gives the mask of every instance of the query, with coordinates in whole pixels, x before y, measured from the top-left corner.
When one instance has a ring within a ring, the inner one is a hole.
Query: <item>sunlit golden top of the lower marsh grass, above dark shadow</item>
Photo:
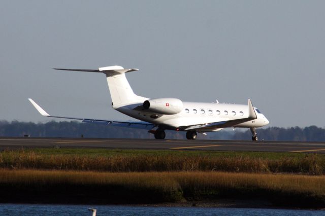
[[[230,172],[93,172],[48,170],[0,170],[1,184],[124,185],[161,190],[188,188],[207,191],[215,188],[259,188],[283,192],[325,195],[325,176],[257,174]]]

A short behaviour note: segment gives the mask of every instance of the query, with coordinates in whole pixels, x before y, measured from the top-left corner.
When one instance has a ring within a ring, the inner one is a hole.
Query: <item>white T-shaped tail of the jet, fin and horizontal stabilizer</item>
[[[126,80],[125,73],[136,71],[139,69],[124,69],[121,66],[106,66],[99,67],[98,69],[66,69],[66,68],[53,68],[56,70],[73,70],[73,71],[86,71],[95,73],[104,73],[106,75],[108,87],[112,97],[113,105],[128,104],[135,102],[143,102],[148,98],[136,95],[128,81]]]

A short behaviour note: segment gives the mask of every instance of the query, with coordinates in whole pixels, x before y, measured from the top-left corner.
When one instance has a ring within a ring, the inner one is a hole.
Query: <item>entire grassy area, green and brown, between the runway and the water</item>
[[[0,202],[267,200],[325,207],[325,155],[170,150],[0,152]]]

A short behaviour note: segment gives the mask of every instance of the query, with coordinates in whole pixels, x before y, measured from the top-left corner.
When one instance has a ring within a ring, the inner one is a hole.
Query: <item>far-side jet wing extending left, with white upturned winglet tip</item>
[[[53,118],[61,118],[61,119],[73,119],[73,120],[82,120],[82,122],[86,123],[96,123],[96,124],[106,124],[112,126],[119,126],[119,127],[131,127],[131,128],[138,128],[138,129],[149,129],[151,130],[155,127],[154,124],[148,122],[122,122],[122,121],[110,121],[110,120],[100,120],[100,119],[86,119],[86,118],[74,118],[74,117],[62,117],[62,116],[51,116],[45,110],[42,109],[34,100],[28,98],[30,103],[36,108],[36,110],[42,115],[46,117],[53,117]]]

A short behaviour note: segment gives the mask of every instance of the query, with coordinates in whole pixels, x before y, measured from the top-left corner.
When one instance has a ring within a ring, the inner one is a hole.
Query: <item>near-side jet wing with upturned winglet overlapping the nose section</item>
[[[232,120],[226,120],[226,121],[220,121],[220,122],[211,122],[206,124],[197,124],[197,125],[190,125],[190,126],[183,126],[183,130],[202,130],[204,129],[218,129],[218,128],[225,128],[225,127],[233,127],[235,125],[238,125],[240,123],[244,123],[247,121],[251,121],[257,119],[254,106],[250,100],[248,100],[248,117],[247,118],[241,118],[241,119],[232,119]]]

